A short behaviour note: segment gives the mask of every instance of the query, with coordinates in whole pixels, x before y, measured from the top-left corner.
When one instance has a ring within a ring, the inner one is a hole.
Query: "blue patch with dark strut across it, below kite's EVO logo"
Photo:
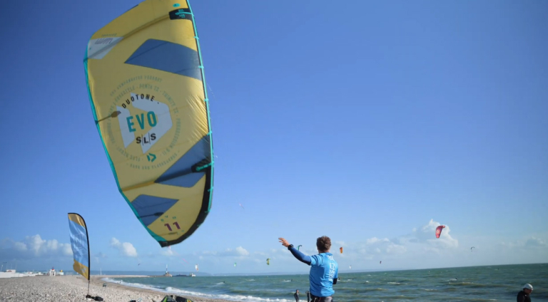
[[[209,142],[208,135],[202,137],[201,140],[196,142],[196,145],[191,147],[191,150],[188,150],[163,175],[158,177],[156,183],[186,188],[194,187],[196,182],[203,177],[204,172],[192,172],[192,167],[198,162],[208,159]]]

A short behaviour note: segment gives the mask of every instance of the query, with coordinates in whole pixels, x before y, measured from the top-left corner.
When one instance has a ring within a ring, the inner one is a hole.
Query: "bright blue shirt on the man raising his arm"
[[[333,296],[333,278],[338,277],[338,264],[331,253],[310,256],[310,293],[318,297]]]

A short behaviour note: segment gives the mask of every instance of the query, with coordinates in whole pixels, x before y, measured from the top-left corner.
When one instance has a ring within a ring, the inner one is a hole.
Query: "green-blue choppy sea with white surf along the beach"
[[[104,273],[104,272],[103,272]],[[111,272],[109,272],[111,273]],[[118,273],[119,274],[119,273]],[[125,272],[124,274],[127,274]],[[548,302],[548,264],[472,266],[339,273],[333,301],[516,301],[531,283],[532,301]],[[106,281],[177,296],[229,301],[307,301],[308,274],[260,276],[123,277]]]

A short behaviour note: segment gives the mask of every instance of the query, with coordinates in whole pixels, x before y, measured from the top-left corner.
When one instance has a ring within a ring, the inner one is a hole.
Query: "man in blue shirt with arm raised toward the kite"
[[[333,301],[333,284],[337,284],[339,267],[337,261],[333,259],[331,249],[331,239],[328,236],[321,236],[316,239],[316,248],[318,255],[307,256],[298,249],[289,244],[282,237],[278,238],[283,246],[291,251],[299,261],[310,266],[310,298],[312,302],[331,302]]]

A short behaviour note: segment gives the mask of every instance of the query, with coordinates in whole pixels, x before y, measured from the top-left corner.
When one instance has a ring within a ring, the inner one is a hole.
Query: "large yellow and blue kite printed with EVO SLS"
[[[118,190],[160,246],[180,243],[213,198],[208,94],[188,0],[142,1],[91,36],[83,64]]]

